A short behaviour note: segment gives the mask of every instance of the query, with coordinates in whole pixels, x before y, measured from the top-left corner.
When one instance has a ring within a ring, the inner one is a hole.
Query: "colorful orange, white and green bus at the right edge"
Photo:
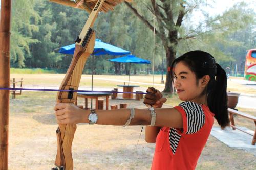
[[[244,79],[256,81],[256,49],[248,50],[246,54]]]

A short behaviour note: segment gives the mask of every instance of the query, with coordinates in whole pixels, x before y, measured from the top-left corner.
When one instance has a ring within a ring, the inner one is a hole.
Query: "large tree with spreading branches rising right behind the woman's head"
[[[205,19],[199,21],[195,27],[191,23],[185,22],[192,15],[195,9],[207,4],[202,0],[182,1],[182,0],[140,0],[134,1],[134,4],[125,2],[134,14],[152,31],[155,28],[155,34],[162,41],[162,45],[166,55],[167,75],[165,81],[165,88],[163,92],[172,93],[172,81],[170,80],[170,65],[177,55],[177,48],[179,43],[190,39],[196,39],[203,34],[209,34],[214,30],[223,31],[229,27],[236,27],[234,23],[237,19],[244,16],[239,15],[218,15],[216,17],[209,17],[207,12],[204,12]],[[153,16],[148,16],[147,11],[141,10],[144,6],[156,18],[157,25],[154,27]],[[202,10],[202,8],[201,8]],[[240,21],[243,22],[243,21]],[[185,24],[186,27],[183,25]]]

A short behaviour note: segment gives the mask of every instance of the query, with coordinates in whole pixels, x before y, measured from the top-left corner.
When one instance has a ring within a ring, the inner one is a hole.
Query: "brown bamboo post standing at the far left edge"
[[[10,87],[11,0],[1,1],[0,87]],[[0,90],[0,170],[8,169],[9,91]]]

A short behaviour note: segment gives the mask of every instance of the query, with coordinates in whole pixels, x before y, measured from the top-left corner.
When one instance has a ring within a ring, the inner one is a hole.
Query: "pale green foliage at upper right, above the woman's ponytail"
[[[221,15],[205,17],[205,31],[198,32],[198,36],[193,39],[181,41],[179,55],[190,50],[203,50],[212,54],[223,68],[230,67],[232,71],[234,63],[237,63],[239,70],[244,69],[246,51],[255,48],[256,19],[253,9],[242,2]],[[191,31],[191,28],[186,27],[183,30]]]

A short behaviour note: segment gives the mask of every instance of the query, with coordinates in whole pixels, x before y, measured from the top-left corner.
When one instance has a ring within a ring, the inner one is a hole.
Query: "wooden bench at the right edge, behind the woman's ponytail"
[[[238,116],[242,116],[242,117],[244,117],[244,118],[250,119],[250,120],[254,121],[254,124],[255,124],[255,126],[256,126],[256,117],[255,117],[255,116],[252,116],[252,115],[249,115],[249,114],[246,114],[246,113],[242,113],[242,112],[240,112],[240,111],[237,111],[237,110],[234,110],[234,109],[230,109],[230,108],[228,108],[228,112],[229,112],[229,121],[231,122],[231,125],[230,125],[230,126],[232,127],[233,130],[234,130],[234,129],[238,129],[238,130],[240,130],[240,131],[242,131],[242,132],[244,132],[244,133],[247,133],[247,134],[253,136],[252,134],[250,134],[250,133],[248,133],[248,132],[245,132],[245,131],[239,129],[239,128],[237,128],[237,127],[234,125],[234,116],[233,116],[233,115],[236,114],[236,115],[238,115]],[[256,142],[256,128],[255,128],[255,130],[254,130],[254,136],[253,136],[253,138],[252,138],[251,144],[252,144],[252,145],[255,145],[255,142]]]

